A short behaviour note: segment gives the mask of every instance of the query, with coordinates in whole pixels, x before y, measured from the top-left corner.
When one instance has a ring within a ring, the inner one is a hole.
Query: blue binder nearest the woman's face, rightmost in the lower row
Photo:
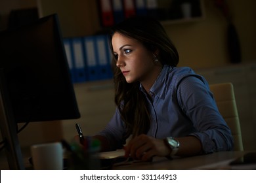
[[[96,41],[96,59],[98,63],[99,79],[104,80],[112,77],[110,66],[109,46],[107,35],[97,35]]]

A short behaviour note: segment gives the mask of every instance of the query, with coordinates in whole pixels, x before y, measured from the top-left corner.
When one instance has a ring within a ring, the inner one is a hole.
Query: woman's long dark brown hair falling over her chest
[[[161,65],[176,67],[179,63],[179,54],[163,29],[160,22],[147,16],[135,16],[115,25],[110,34],[110,47],[112,37],[120,33],[126,37],[141,42],[150,52],[159,50],[158,60]],[[148,111],[146,96],[140,92],[140,82],[127,83],[120,69],[116,67],[116,58],[113,54],[112,69],[114,73],[115,103],[125,122],[127,133],[125,137],[147,133],[150,128],[150,112]]]

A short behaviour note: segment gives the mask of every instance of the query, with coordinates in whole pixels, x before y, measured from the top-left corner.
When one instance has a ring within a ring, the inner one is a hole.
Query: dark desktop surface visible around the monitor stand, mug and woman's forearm
[[[255,151],[254,151],[255,152]],[[29,162],[30,150],[22,150],[24,155],[24,165],[26,169],[33,169]],[[230,152],[215,152],[213,154],[206,154],[201,156],[192,156],[186,158],[175,157],[167,159],[163,157],[154,157],[150,162],[143,161],[119,161],[109,167],[109,169],[116,170],[190,170],[190,169],[256,169],[256,163],[251,165],[230,166],[229,163],[242,157],[248,152],[230,151]],[[3,152],[0,154],[0,169],[9,169],[8,163],[5,160]],[[104,167],[103,167],[104,169]]]

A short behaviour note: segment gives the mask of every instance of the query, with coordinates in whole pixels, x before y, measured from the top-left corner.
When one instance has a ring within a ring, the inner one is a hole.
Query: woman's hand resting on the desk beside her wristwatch
[[[144,134],[135,137],[125,146],[125,156],[142,161],[149,161],[154,156],[167,156],[170,153],[171,150],[163,139],[155,139]]]

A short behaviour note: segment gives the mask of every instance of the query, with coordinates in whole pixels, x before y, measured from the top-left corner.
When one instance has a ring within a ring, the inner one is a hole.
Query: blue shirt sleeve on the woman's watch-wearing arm
[[[192,121],[198,132],[191,133],[200,139],[207,153],[232,150],[230,128],[219,113],[213,94],[204,80],[197,76],[183,78],[177,87],[177,99],[181,110]]]

